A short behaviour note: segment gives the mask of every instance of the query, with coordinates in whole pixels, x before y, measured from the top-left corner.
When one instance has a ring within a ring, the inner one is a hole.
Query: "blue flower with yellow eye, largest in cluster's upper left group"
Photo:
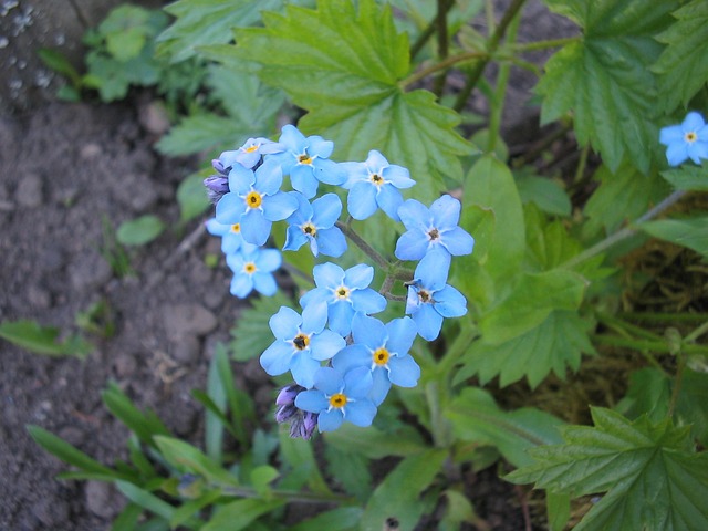
[[[298,208],[298,200],[280,191],[280,166],[263,163],[256,173],[240,164],[229,173],[229,194],[217,204],[217,221],[241,225],[243,239],[262,246],[270,236],[272,221],[285,219]]]

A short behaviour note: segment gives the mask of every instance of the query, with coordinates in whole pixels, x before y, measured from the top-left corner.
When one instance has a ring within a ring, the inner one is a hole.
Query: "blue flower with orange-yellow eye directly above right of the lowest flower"
[[[415,387],[420,367],[408,354],[418,329],[410,317],[394,319],[386,325],[374,317],[357,313],[352,322],[354,344],[334,358],[332,366],[345,373],[365,366],[372,372],[369,398],[379,405],[386,398],[391,384]]]

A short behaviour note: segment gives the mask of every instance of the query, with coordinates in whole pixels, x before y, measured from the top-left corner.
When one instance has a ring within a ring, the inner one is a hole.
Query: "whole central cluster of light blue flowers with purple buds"
[[[398,260],[417,262],[415,271],[398,269],[395,274],[407,274],[406,298],[386,292],[388,288],[382,293],[369,288],[375,273],[371,266],[344,270],[324,262],[313,269],[315,287],[300,299],[302,311],[282,306],[271,316],[275,341],[260,363],[271,376],[292,375],[294,383],[275,400],[275,418],[290,423],[293,437],[310,438],[315,427],[333,430],[345,420],[369,426],[392,385],[417,385],[420,367],[410,355],[415,339],[435,340],[444,319],[467,312],[465,296],[447,284],[451,258],[469,254],[475,244],[458,226],[460,202],[447,195],[429,208],[404,201],[400,190],[415,185],[406,168],[376,150],[363,163],[335,163],[329,158],[333,149],[332,142],[305,137],[287,125],[278,142],[250,138],[239,149],[222,153],[212,162],[217,175],[205,180],[216,205],[207,229],[221,237],[233,271],[231,293],[240,298],[253,290],[264,295],[277,290],[272,273],[281,254],[262,247],[275,221],[288,223],[283,251],[306,243],[315,257],[337,258],[347,249],[346,232],[368,252],[351,227],[340,223],[340,197],[315,197],[320,183],[347,190],[351,218],[364,220],[381,209],[406,229],[394,251]],[[284,177],[290,181],[285,189]],[[384,285],[391,280],[387,277]],[[374,317],[386,309],[387,299],[405,302],[407,315],[387,323]]]

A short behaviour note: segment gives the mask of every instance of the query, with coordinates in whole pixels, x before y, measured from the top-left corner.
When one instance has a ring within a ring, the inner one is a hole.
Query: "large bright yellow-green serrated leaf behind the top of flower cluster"
[[[408,42],[396,32],[391,7],[363,0],[357,12],[352,2],[334,0],[317,10],[263,13],[263,29],[237,31],[236,52],[309,112],[302,131],[334,140],[336,158],[363,160],[378,149],[410,169],[424,201],[445,188],[442,175],[461,180],[458,155],[472,147],[452,131],[459,115],[429,92],[399,86],[409,71]]]

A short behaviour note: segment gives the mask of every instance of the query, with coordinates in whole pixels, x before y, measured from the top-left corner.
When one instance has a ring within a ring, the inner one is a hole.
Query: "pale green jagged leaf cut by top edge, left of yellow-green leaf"
[[[231,40],[231,28],[251,25],[260,20],[260,11],[279,9],[280,0],[179,0],[165,8],[176,18],[173,25],[157,38],[157,55],[177,63],[191,58],[196,49],[223,44]]]

